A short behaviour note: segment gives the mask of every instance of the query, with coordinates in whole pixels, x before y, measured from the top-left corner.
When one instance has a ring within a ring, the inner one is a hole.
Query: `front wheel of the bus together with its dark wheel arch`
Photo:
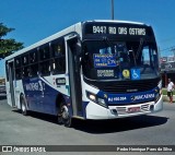
[[[65,127],[70,128],[72,126],[72,118],[66,105],[65,97],[62,95],[58,95],[56,99],[57,106],[57,122],[59,124],[65,124]]]

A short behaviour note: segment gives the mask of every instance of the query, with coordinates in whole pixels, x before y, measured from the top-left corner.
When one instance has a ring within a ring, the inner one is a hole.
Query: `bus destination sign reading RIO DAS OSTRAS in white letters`
[[[88,23],[84,27],[85,34],[106,34],[121,36],[150,36],[151,28],[138,24],[114,24],[114,23]]]

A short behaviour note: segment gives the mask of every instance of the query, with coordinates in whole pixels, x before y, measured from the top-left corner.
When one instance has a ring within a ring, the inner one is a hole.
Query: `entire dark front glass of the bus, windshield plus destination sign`
[[[82,56],[84,78],[92,81],[160,76],[154,33],[144,24],[84,23]]]

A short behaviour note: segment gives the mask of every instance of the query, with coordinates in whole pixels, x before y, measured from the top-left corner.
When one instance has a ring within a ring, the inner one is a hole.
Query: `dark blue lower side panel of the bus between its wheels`
[[[62,87],[57,88],[56,85],[52,85],[50,79],[34,78],[23,80],[24,93],[30,110],[57,115],[56,98],[59,94],[63,96],[66,103],[69,103],[68,93],[63,94],[66,85],[62,86],[65,90]]]

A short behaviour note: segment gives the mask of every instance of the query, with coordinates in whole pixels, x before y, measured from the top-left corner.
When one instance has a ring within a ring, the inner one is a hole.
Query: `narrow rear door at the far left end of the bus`
[[[8,62],[8,74],[9,74],[9,99],[11,100],[11,106],[15,107],[15,79],[14,79],[14,61]]]

